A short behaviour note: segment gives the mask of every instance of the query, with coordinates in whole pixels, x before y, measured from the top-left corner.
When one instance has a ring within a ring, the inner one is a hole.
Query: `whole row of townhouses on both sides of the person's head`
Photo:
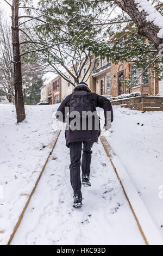
[[[86,65],[89,65],[89,63]],[[94,93],[99,95],[111,95],[112,97],[133,92],[140,92],[141,95],[145,96],[163,96],[163,79],[159,81],[152,68],[145,70],[136,69],[133,62],[119,62],[114,64],[106,58],[101,57],[96,59],[96,67],[94,69],[93,65],[94,63],[92,63],[92,67],[90,68],[90,70],[93,71],[90,71],[91,74],[88,72],[84,82],[88,84],[89,88]],[[82,70],[81,79],[86,68],[87,66]],[[129,78],[130,74],[133,78],[138,77],[139,83],[128,88],[122,78]],[[72,80],[68,72],[66,72],[65,75]],[[47,88],[45,89],[45,87]],[[72,93],[73,88],[70,82],[67,82],[58,75],[50,83],[40,88],[41,100],[46,100],[49,104],[59,103],[67,95]]]

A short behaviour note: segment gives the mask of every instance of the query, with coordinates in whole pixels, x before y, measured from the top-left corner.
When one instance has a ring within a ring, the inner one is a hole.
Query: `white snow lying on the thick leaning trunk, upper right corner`
[[[158,37],[163,38],[163,16],[147,0],[135,0],[135,3],[139,5],[139,11],[147,13],[146,20],[160,28]]]

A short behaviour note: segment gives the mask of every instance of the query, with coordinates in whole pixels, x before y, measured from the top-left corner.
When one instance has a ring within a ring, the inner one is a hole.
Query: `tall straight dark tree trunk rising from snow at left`
[[[14,86],[15,86],[15,107],[17,123],[26,118],[23,91],[22,91],[22,70],[20,57],[20,42],[18,29],[18,0],[12,0],[12,45],[14,57]]]

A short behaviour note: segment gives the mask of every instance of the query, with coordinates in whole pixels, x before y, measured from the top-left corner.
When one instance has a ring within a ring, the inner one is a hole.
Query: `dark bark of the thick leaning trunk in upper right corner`
[[[159,50],[159,45],[163,43],[163,39],[157,35],[160,28],[155,26],[153,22],[146,20],[145,11],[140,12],[134,0],[114,0],[114,2],[136,23],[138,33],[146,36],[154,44],[156,50]]]

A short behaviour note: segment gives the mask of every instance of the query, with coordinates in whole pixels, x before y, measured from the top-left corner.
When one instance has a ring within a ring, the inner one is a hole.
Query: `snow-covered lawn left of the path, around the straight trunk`
[[[26,106],[27,119],[17,125],[15,106],[0,105],[0,244],[9,240],[27,201],[26,194],[32,191],[46,161],[56,108]]]

